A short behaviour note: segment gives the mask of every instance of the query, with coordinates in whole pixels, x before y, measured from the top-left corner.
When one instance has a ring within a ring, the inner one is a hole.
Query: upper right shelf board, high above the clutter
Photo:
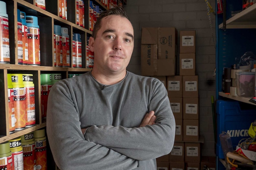
[[[256,28],[255,16],[256,4],[253,4],[251,7],[228,19],[226,21],[226,28]],[[219,25],[219,28],[223,28],[223,23]]]

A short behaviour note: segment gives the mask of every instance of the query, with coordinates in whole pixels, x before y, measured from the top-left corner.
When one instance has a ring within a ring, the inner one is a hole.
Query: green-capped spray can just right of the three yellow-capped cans
[[[48,95],[52,87],[51,74],[41,74],[41,113],[46,118]]]

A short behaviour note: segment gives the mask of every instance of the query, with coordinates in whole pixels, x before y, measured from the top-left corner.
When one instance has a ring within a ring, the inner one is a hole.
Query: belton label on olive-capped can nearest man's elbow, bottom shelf
[[[35,141],[37,169],[47,169],[46,140]]]

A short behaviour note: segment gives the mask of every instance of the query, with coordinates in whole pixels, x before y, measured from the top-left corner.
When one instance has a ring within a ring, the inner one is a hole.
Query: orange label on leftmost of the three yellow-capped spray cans
[[[14,114],[14,96],[13,89],[8,89],[8,113],[9,113],[9,131],[15,130],[15,114]]]

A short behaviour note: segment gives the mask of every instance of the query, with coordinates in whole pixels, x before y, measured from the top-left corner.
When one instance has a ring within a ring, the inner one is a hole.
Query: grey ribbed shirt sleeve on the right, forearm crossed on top
[[[136,160],[148,160],[170,153],[175,137],[175,119],[163,83],[156,80],[148,111],[155,111],[156,124],[145,127],[91,126],[85,140],[106,146]]]

